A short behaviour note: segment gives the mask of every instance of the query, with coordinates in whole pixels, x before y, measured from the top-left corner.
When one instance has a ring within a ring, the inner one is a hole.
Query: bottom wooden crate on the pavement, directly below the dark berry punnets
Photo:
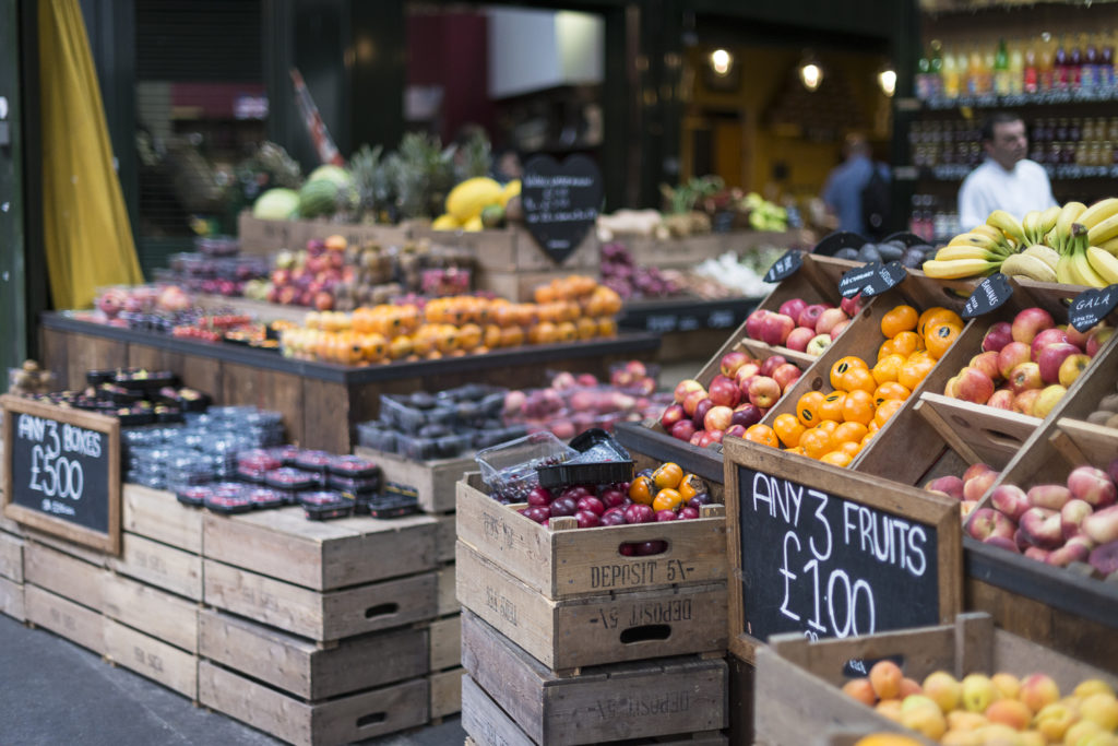
[[[312,703],[203,660],[198,699],[290,744],[335,746],[424,725],[429,695],[426,679],[413,679]]]

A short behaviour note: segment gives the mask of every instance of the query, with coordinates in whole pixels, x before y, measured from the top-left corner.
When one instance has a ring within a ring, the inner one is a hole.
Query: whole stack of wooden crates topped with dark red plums
[[[474,742],[726,743],[720,506],[690,521],[550,530],[490,499],[476,473],[457,499],[462,724]],[[660,540],[661,554],[620,550]]]

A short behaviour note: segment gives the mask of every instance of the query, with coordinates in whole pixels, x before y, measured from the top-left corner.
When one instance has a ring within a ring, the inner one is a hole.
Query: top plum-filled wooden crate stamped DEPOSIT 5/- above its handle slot
[[[695,520],[550,530],[519,514],[520,506],[490,498],[479,473],[458,482],[457,504],[458,540],[552,601],[726,579],[720,506]],[[667,540],[667,550],[648,557],[620,554],[623,542],[652,540]]]

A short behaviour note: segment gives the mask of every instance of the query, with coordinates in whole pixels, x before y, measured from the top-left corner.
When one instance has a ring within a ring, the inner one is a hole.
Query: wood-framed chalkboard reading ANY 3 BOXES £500
[[[121,546],[120,422],[16,396],[4,412],[3,514],[107,554]]]

